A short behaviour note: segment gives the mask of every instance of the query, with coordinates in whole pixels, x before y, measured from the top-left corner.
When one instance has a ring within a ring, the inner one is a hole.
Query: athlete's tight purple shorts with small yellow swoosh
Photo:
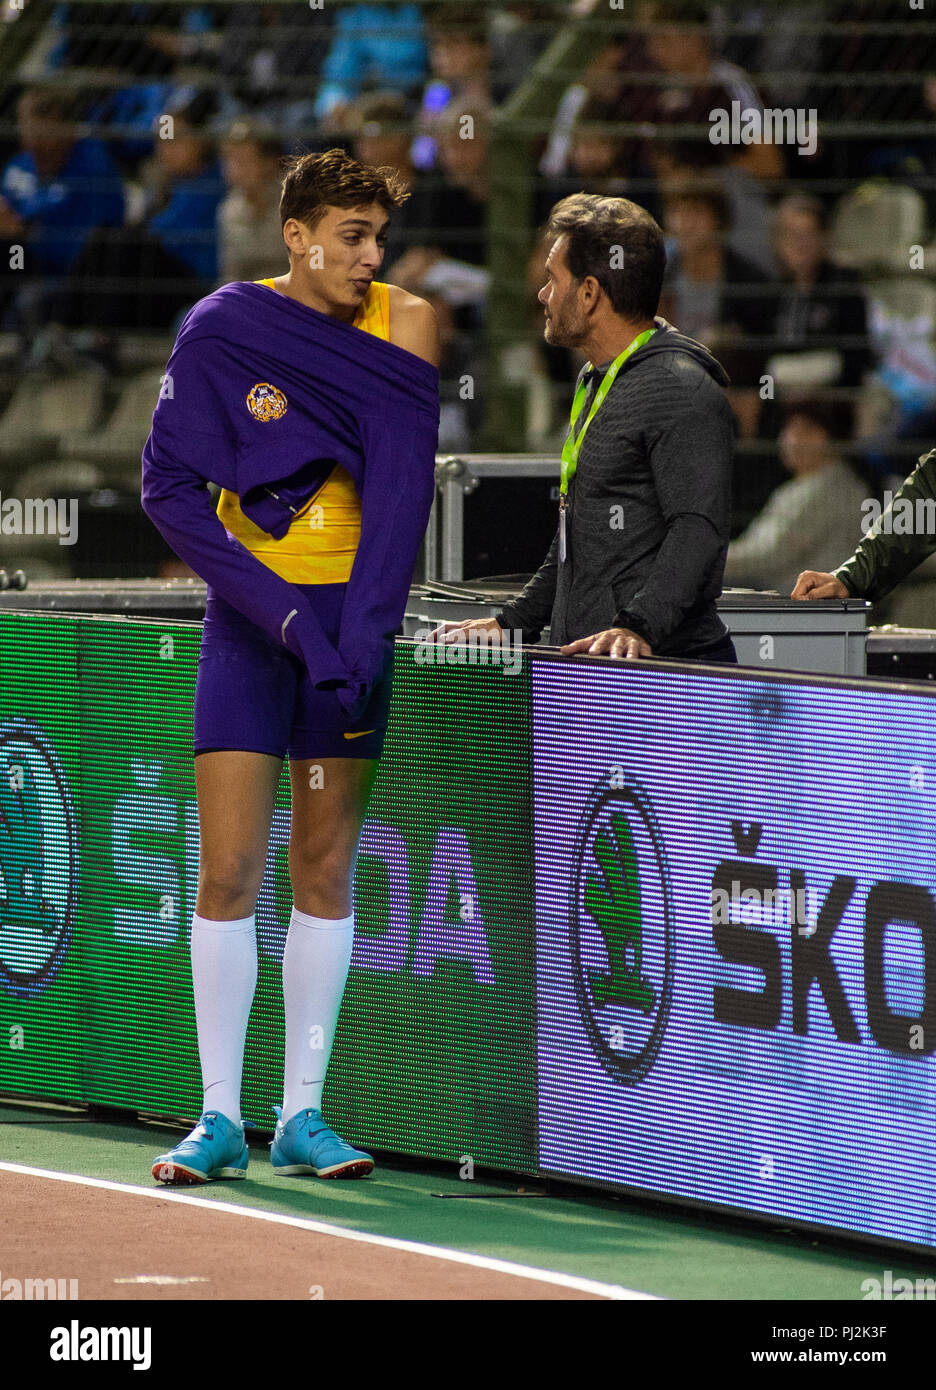
[[[346,584],[300,584],[335,642]],[[335,691],[317,691],[306,667],[209,587],[195,687],[195,753],[238,749],[273,758],[380,758],[392,666],[350,723]],[[353,737],[348,737],[348,735]]]

